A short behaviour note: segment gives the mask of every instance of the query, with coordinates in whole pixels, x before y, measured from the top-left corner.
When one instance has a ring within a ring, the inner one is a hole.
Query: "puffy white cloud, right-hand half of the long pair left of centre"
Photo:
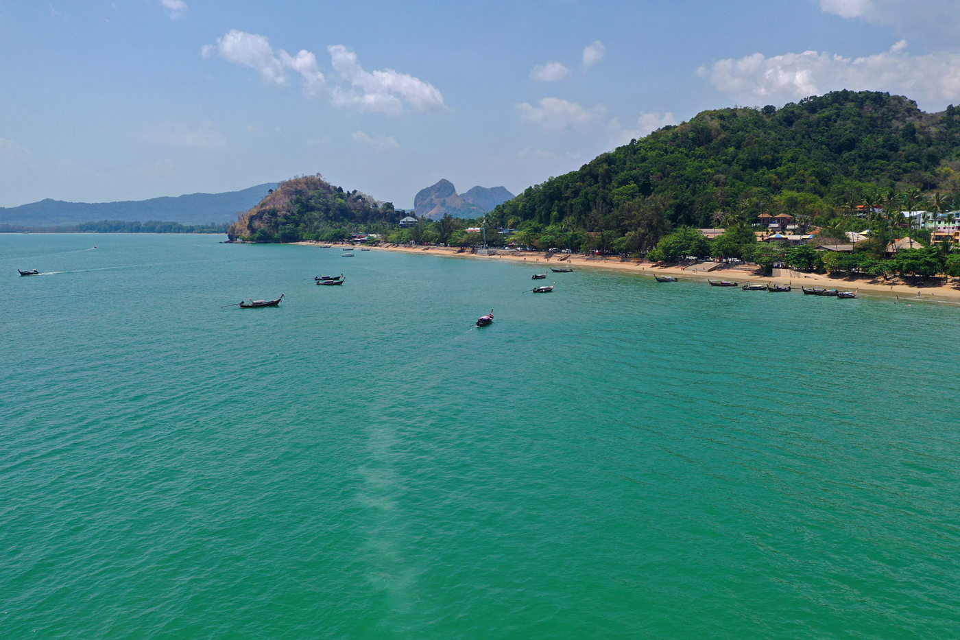
[[[375,111],[397,115],[403,103],[418,111],[445,109],[444,96],[430,83],[394,69],[365,71],[356,54],[342,44],[326,47],[333,70],[349,84],[348,88],[334,87],[333,104],[356,107],[359,111]]]

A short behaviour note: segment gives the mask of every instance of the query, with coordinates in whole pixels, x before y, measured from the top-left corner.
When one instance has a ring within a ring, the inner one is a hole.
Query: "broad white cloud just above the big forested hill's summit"
[[[762,54],[714,62],[698,74],[744,104],[783,103],[848,88],[889,91],[943,109],[960,100],[960,55],[912,56],[900,40],[888,51],[843,58],[817,51],[766,58]]]

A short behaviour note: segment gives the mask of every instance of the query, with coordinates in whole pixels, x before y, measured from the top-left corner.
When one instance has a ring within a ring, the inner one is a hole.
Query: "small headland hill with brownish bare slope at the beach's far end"
[[[392,204],[330,185],[318,174],[280,183],[260,204],[241,214],[227,234],[255,242],[336,240],[360,226],[387,228],[399,217]]]

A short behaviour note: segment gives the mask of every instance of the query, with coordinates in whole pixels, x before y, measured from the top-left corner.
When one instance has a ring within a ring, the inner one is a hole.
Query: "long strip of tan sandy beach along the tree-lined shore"
[[[310,247],[320,247],[319,243],[314,242],[291,242],[290,244],[310,246]],[[330,243],[334,247],[343,248],[344,244]],[[698,271],[697,267],[701,266],[698,264],[691,264],[687,266],[672,265],[672,266],[655,266],[650,262],[637,262],[636,260],[621,261],[617,258],[592,258],[586,256],[578,256],[576,254],[554,254],[550,258],[546,258],[542,253],[524,253],[521,255],[513,255],[508,253],[499,253],[500,250],[494,250],[498,253],[494,256],[480,256],[477,254],[462,253],[458,254],[457,250],[450,247],[379,247],[371,246],[364,247],[365,249],[372,249],[373,251],[393,251],[396,253],[403,254],[418,254],[418,255],[428,255],[428,256],[444,256],[446,258],[478,258],[478,259],[488,259],[488,260],[503,260],[510,262],[517,262],[521,264],[530,264],[541,265],[542,268],[546,269],[550,265],[559,266],[561,264],[574,266],[577,268],[590,268],[590,269],[609,269],[614,271],[626,271],[637,273],[646,276],[655,276],[655,275],[664,275],[664,276],[684,276],[692,278],[700,278],[707,280],[712,278],[715,280],[732,280],[737,283],[775,283],[775,284],[791,284],[795,288],[799,289],[803,286],[828,286],[829,288],[838,288],[838,289],[859,289],[861,291],[870,291],[876,293],[886,293],[887,295],[899,296],[900,298],[912,298],[912,299],[923,299],[923,300],[933,300],[938,299],[945,302],[960,302],[960,288],[957,288],[958,284],[927,284],[922,286],[911,286],[905,283],[882,283],[879,281],[863,281],[856,279],[846,279],[846,278],[830,278],[826,274],[817,274],[817,273],[802,273],[799,271],[792,271],[789,269],[775,269],[773,276],[757,276],[754,273],[752,267],[742,267],[742,266],[721,266],[715,271]],[[360,247],[357,247],[359,251]],[[777,273],[781,272],[781,273]],[[920,295],[918,296],[918,292]]]

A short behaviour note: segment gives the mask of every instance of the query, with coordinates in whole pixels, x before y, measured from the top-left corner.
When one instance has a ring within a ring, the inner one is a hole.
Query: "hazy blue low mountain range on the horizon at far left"
[[[264,183],[227,193],[191,193],[178,197],[96,204],[62,202],[47,198],[20,207],[0,207],[0,225],[55,227],[100,220],[159,220],[184,225],[223,224],[234,222],[238,212],[251,209],[270,189],[275,189],[276,185]]]

